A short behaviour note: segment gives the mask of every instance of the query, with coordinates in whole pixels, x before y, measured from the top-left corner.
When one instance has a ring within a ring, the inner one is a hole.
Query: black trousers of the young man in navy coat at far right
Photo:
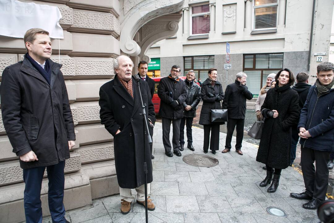
[[[301,147],[302,171],[306,192],[319,201],[325,200],[328,187],[328,168],[330,151],[320,151]],[[314,169],[314,161],[316,170]]]

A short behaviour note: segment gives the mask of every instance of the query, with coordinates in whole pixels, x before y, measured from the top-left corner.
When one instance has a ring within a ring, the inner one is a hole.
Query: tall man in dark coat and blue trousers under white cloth
[[[42,222],[40,192],[46,168],[52,222],[64,223],[68,222],[63,205],[64,166],[75,145],[67,90],[61,64],[50,60],[49,33],[29,29],[24,42],[27,53],[23,61],[2,73],[2,120],[23,169],[26,222]]]

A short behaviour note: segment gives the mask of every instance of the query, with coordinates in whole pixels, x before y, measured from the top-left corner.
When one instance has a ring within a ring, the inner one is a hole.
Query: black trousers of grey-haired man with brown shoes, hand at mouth
[[[225,149],[231,149],[231,141],[233,136],[233,131],[236,126],[236,143],[235,150],[240,150],[242,146],[243,139],[243,125],[245,123],[245,119],[234,119],[229,118],[227,122],[227,134],[225,141]]]

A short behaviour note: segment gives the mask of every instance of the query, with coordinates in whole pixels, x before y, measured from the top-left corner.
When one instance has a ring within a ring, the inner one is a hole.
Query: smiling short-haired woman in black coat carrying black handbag
[[[204,153],[208,152],[210,144],[212,153],[216,154],[216,150],[219,150],[219,125],[225,123],[211,122],[210,111],[211,109],[221,109],[221,101],[224,99],[224,92],[221,84],[216,80],[217,69],[209,69],[208,76],[209,77],[201,86],[201,99],[203,100],[203,105],[199,117],[199,124],[204,126]]]

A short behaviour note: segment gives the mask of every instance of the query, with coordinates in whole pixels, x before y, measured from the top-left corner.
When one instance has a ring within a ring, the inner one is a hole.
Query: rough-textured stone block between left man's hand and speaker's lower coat
[[[96,162],[109,160],[114,158],[114,145],[94,146],[88,148],[80,148],[77,150],[81,156],[81,163]]]

